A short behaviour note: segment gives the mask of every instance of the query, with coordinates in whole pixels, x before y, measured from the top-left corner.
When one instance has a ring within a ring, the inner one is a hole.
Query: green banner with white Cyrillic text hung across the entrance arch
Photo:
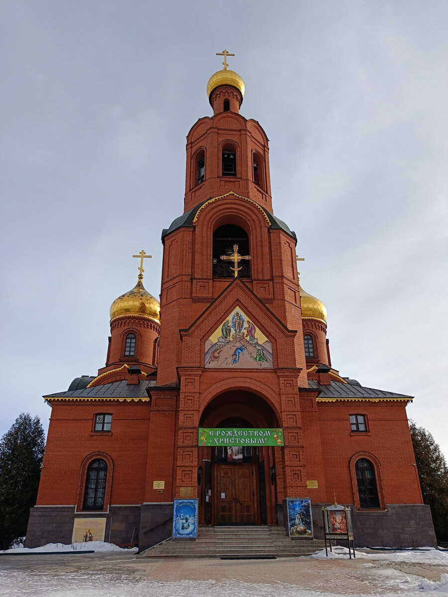
[[[283,429],[242,429],[225,427],[223,429],[201,427],[199,429],[200,446],[283,446]]]

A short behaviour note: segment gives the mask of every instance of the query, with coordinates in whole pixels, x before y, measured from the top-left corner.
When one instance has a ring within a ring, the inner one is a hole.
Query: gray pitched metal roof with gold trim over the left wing
[[[127,400],[148,398],[146,388],[155,386],[155,380],[140,381],[140,383],[128,384],[127,380],[114,381],[106,383],[103,386],[85,387],[79,390],[69,390],[67,392],[57,392],[56,394],[47,394],[44,398],[60,400]]]

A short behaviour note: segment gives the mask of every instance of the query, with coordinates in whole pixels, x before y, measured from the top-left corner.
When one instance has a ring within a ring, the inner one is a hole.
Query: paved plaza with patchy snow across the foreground
[[[448,595],[448,566],[357,559],[144,559],[134,553],[4,555],[0,596]]]

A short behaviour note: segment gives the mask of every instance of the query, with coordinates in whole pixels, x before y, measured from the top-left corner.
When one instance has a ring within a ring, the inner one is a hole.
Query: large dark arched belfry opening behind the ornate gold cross
[[[231,268],[234,262],[223,260],[221,256],[231,256],[234,252],[234,245],[238,245],[238,253],[241,256],[250,255],[249,237],[246,230],[235,224],[224,224],[219,226],[213,233],[213,277],[214,278],[234,278],[235,272]],[[250,278],[250,261],[242,259],[238,263],[238,276],[240,278]]]

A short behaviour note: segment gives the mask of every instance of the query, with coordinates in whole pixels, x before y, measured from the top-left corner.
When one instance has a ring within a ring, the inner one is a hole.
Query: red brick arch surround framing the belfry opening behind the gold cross
[[[271,244],[269,241],[269,224],[265,212],[258,205],[239,198],[217,199],[202,212],[195,226],[194,277],[211,278],[211,259],[204,259],[204,255],[212,254],[213,232],[223,224],[237,224],[246,230],[249,237],[252,276],[255,279],[271,278],[269,255]],[[263,259],[260,258],[263,256]]]

